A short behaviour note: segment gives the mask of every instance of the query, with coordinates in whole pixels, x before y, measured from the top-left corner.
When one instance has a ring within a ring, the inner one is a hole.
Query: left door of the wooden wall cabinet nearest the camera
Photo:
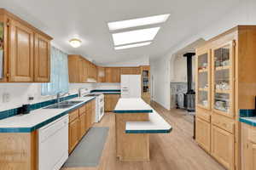
[[[34,32],[10,20],[9,82],[33,82]]]

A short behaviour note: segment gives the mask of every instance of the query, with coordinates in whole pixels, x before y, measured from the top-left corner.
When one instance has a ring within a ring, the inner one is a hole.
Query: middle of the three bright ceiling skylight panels
[[[154,27],[136,31],[113,33],[113,43],[115,46],[118,46],[127,43],[152,41],[159,30],[160,27]]]

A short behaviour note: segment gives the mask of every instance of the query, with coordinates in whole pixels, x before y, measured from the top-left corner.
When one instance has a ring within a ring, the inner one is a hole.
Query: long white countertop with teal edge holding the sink
[[[0,133],[30,133],[49,122],[54,122],[61,116],[67,115],[70,111],[78,109],[95,97],[74,98],[83,102],[73,105],[67,109],[37,109],[26,115],[16,115],[0,120]]]

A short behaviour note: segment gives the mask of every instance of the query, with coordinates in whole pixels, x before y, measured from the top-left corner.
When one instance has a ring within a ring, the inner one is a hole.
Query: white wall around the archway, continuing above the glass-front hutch
[[[151,67],[154,67],[152,74],[154,79],[160,83],[155,83],[154,100],[160,105],[163,105],[166,109],[170,109],[170,82],[171,77],[174,76],[173,61],[177,54],[177,51],[188,46],[192,42],[197,41],[200,38],[208,40],[218,34],[229,30],[230,28],[238,25],[256,25],[256,1],[255,0],[243,0],[232,11],[227,11],[227,14],[223,18],[216,19],[216,22],[209,24],[207,28],[202,28],[200,32],[187,38],[183,42],[178,43],[174,47],[170,47],[167,54],[159,56],[157,59],[150,59]],[[154,61],[154,62],[153,62]],[[163,69],[165,68],[165,69]],[[165,71],[172,71],[166,73]],[[170,77],[166,77],[166,75]],[[168,84],[168,85],[167,85]],[[164,89],[161,89],[164,88]],[[159,94],[157,94],[159,93]]]

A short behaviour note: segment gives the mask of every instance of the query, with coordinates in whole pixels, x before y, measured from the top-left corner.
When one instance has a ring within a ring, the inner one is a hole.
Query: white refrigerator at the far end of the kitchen
[[[141,98],[141,75],[121,75],[121,98]]]

